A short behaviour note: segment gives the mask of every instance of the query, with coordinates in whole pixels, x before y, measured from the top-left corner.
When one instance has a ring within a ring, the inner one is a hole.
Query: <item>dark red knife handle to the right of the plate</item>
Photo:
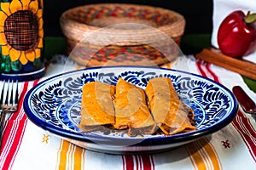
[[[253,99],[251,99],[240,86],[233,87],[232,91],[241,105],[242,110],[251,114],[256,121],[256,104],[253,102]]]

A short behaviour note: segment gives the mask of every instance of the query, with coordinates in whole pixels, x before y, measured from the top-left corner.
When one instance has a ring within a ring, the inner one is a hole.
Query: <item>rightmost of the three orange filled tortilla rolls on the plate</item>
[[[195,130],[189,119],[188,107],[178,98],[170,78],[159,77],[148,81],[145,89],[154,122],[166,135]]]

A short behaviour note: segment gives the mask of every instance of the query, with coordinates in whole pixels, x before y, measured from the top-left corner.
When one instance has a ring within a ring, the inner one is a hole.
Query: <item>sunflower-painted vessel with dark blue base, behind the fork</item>
[[[44,75],[43,0],[0,0],[0,78]]]

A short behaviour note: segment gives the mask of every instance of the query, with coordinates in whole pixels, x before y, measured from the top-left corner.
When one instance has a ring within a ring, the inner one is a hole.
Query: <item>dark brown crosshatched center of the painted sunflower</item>
[[[9,45],[17,50],[34,48],[38,42],[38,20],[28,10],[10,14],[4,23],[4,33]]]

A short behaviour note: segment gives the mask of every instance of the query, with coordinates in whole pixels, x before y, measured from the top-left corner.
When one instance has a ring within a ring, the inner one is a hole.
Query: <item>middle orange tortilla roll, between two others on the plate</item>
[[[146,95],[142,88],[137,88],[122,78],[116,84],[114,99],[116,129],[129,128],[130,133],[154,133],[155,123],[148,110]]]

